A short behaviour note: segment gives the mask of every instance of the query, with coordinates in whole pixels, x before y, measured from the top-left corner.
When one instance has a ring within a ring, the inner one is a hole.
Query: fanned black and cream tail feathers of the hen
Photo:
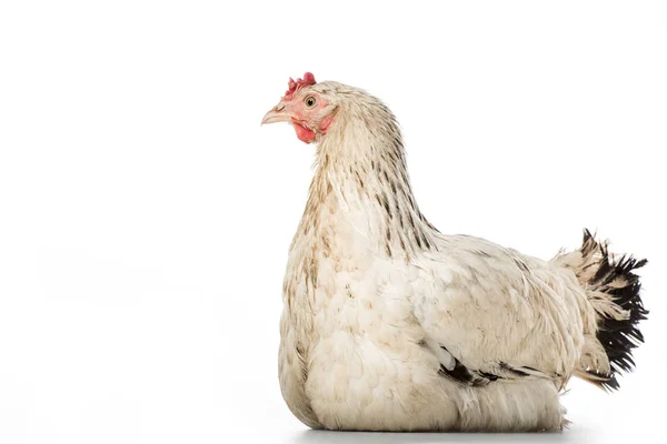
[[[647,261],[625,254],[615,258],[607,243],[597,241],[588,230],[578,250],[560,254],[556,261],[575,272],[595,311],[597,329],[585,332],[588,334],[575,374],[600,389],[618,390],[616,376],[633,371],[633,350],[644,342],[638,323],[647,319],[648,311],[634,271]]]

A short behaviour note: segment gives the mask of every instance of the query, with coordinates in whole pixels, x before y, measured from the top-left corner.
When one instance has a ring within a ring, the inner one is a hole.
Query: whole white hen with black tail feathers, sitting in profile
[[[394,114],[360,89],[290,79],[272,122],[317,143],[280,321],[280,387],[302,423],[558,431],[571,376],[618,389],[643,342],[645,260],[588,231],[549,261],[440,233],[412,195]]]

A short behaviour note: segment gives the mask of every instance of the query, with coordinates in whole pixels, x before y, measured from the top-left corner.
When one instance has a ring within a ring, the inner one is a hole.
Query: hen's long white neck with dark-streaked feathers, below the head
[[[317,231],[326,214],[354,224],[379,254],[435,250],[437,230],[412,195],[396,119],[369,99],[341,107],[319,144],[301,230]]]

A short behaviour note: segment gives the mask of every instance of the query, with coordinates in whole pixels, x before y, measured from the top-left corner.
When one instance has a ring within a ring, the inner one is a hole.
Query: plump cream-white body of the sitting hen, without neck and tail
[[[438,238],[439,251],[409,263],[381,258],[345,221],[325,224],[338,233],[328,246],[306,236],[290,255],[280,382],[297,416],[334,430],[560,427],[558,390],[584,343],[573,273],[521,259],[544,279],[531,283],[511,252],[464,236]],[[464,385],[439,373],[427,341],[472,369],[511,362],[561,377]]]

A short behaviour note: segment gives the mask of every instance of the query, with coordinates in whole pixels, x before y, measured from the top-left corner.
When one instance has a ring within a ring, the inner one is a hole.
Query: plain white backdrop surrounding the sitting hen
[[[3,1],[0,442],[651,442],[664,428],[667,9],[659,1]],[[313,147],[288,77],[362,87],[441,231],[647,256],[637,372],[551,435],[307,432],[277,380]]]

